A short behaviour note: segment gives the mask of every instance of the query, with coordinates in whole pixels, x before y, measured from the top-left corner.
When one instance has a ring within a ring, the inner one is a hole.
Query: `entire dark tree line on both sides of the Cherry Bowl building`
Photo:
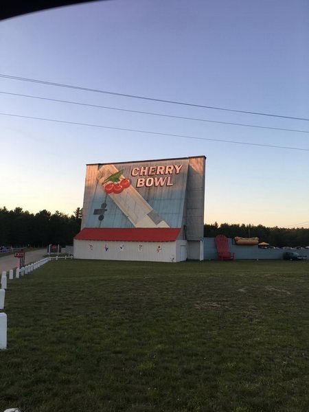
[[[78,207],[71,216],[55,211],[52,214],[46,209],[32,214],[21,207],[8,210],[0,208],[0,247],[45,247],[47,244],[73,243],[73,237],[80,231],[82,209]],[[215,222],[204,225],[204,236],[214,238],[217,235],[228,238],[255,238],[277,247],[309,246],[309,228],[266,227],[263,225],[235,225]]]

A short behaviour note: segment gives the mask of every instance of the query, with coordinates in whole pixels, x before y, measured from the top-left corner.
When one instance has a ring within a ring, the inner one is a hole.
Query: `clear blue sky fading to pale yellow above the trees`
[[[110,0],[0,22],[0,73],[308,118],[307,0]],[[219,122],[309,131],[234,113],[0,77],[0,91]],[[309,227],[309,134],[159,117],[0,93],[0,207],[71,214],[87,163],[205,155],[205,222]],[[300,225],[299,225],[300,224]]]

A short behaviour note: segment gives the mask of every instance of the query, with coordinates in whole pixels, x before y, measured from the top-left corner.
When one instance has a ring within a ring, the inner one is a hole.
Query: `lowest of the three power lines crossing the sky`
[[[271,144],[260,144],[260,143],[249,143],[247,141],[234,141],[234,140],[225,140],[225,139],[210,139],[209,137],[195,137],[195,136],[187,136],[187,135],[174,135],[171,133],[159,133],[159,132],[152,132],[150,130],[138,130],[138,129],[131,129],[131,128],[121,128],[121,127],[112,127],[112,126],[104,126],[101,124],[89,124],[89,123],[79,123],[79,122],[68,122],[66,120],[58,120],[58,119],[46,119],[45,117],[32,117],[32,116],[23,116],[23,115],[14,115],[12,113],[0,113],[3,116],[12,116],[12,117],[21,117],[23,119],[35,119],[35,120],[43,120],[45,122],[56,122],[56,123],[64,123],[64,124],[76,124],[78,126],[89,126],[89,127],[98,127],[98,128],[105,128],[110,130],[122,130],[126,132],[135,132],[135,133],[146,133],[148,135],[159,135],[159,136],[170,136],[170,137],[183,137],[184,139],[196,139],[196,140],[207,140],[207,141],[219,141],[222,143],[232,143],[232,144],[244,144],[247,146],[261,146],[266,148],[277,148],[277,149],[288,149],[288,150],[303,150],[309,152],[309,149],[306,148],[295,148],[290,146],[275,146]]]

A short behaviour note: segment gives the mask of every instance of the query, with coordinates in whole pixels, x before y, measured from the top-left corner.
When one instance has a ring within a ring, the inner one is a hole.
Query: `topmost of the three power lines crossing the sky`
[[[229,111],[229,112],[234,112],[234,113],[246,113],[247,115],[280,117],[282,119],[306,120],[307,122],[309,122],[309,119],[307,119],[306,117],[273,115],[273,114],[270,114],[270,113],[236,110],[236,109],[233,109],[233,108],[224,108],[224,107],[216,107],[216,106],[205,106],[203,104],[179,102],[179,101],[176,101],[176,100],[164,100],[164,99],[148,98],[146,96],[131,95],[131,94],[127,94],[127,93],[116,93],[115,91],[106,91],[106,90],[100,90],[100,89],[90,89],[89,87],[74,86],[73,84],[47,82],[46,80],[38,80],[38,79],[30,79],[30,78],[23,78],[23,77],[17,77],[17,76],[9,76],[8,74],[1,74],[1,73],[0,73],[0,77],[1,78],[6,78],[6,79],[11,79],[11,80],[23,80],[25,82],[34,82],[34,83],[39,83],[39,84],[47,84],[49,86],[67,87],[68,89],[77,89],[77,90],[83,90],[83,91],[92,91],[92,92],[95,92],[95,93],[104,93],[104,94],[108,94],[108,95],[122,96],[124,98],[134,98],[134,99],[141,99],[141,100],[150,100],[152,102],[179,104],[181,106],[211,108],[211,109],[220,110],[220,111]]]

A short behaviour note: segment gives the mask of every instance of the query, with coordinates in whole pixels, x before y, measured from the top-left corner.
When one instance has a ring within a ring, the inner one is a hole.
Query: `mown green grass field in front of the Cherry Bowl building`
[[[309,411],[308,262],[59,260],[9,281],[0,411]]]

